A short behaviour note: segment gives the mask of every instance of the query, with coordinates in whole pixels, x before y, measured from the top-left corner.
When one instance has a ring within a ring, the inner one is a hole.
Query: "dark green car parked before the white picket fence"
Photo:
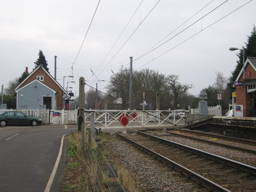
[[[42,120],[39,117],[31,117],[20,111],[5,111],[0,113],[0,126],[30,124],[37,126]]]

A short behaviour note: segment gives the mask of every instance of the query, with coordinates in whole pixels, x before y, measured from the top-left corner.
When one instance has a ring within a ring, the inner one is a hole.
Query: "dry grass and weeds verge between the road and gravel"
[[[102,143],[110,142],[111,136],[100,134]],[[98,190],[103,192],[109,191],[111,183],[117,183],[115,178],[107,177],[107,172],[103,175],[98,167],[98,163],[102,166],[104,162],[98,146],[83,145],[81,133],[75,132],[67,137],[68,141],[68,157],[65,166],[65,173],[62,182],[62,192],[96,192]],[[103,149],[102,149],[103,151]],[[109,156],[108,151],[103,151],[104,155]],[[98,161],[98,163],[96,162]],[[138,184],[132,179],[128,170],[114,161],[117,166],[119,181],[126,192],[140,192]],[[102,180],[100,186],[98,179]],[[100,188],[99,188],[100,187]],[[98,188],[98,190],[97,190]]]

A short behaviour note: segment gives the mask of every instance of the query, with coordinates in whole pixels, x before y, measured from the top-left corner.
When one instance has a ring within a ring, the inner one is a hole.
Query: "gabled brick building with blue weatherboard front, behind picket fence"
[[[27,68],[26,68],[27,73]],[[16,88],[17,109],[63,109],[63,95],[70,95],[41,65]]]

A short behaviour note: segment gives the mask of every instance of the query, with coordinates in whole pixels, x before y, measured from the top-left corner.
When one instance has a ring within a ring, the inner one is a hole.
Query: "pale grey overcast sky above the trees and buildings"
[[[57,79],[60,85],[63,85],[63,76],[73,74],[73,80],[65,78],[64,87],[67,81],[76,81],[69,85],[76,96],[79,77],[84,77],[89,85],[96,87],[94,72],[98,79],[105,80],[98,82],[98,89],[105,91],[104,87],[113,75],[111,70],[117,73],[122,65],[130,67],[130,56],[135,60],[134,70],[149,68],[165,75],[179,75],[181,83],[194,85],[189,90],[194,95],[215,82],[216,71],[230,77],[238,51],[232,52],[228,48],[245,45],[256,24],[256,1],[158,1],[101,0],[89,30],[98,0],[2,1],[0,84],[6,88],[8,82],[21,76],[26,67],[32,72],[39,50],[43,51],[53,77],[54,56],[58,57]],[[203,19],[198,21],[201,17]],[[148,50],[151,52],[139,58]]]

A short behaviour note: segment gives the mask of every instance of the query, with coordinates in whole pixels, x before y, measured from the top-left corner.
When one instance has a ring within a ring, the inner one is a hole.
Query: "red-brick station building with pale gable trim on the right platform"
[[[256,117],[256,57],[247,57],[245,61],[245,79],[243,68],[235,81],[242,81],[243,86],[235,87],[235,104],[243,105],[243,117]]]

